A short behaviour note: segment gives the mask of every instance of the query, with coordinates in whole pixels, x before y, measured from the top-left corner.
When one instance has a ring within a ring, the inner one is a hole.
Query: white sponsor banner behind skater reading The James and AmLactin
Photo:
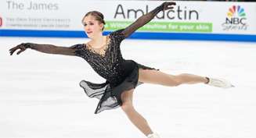
[[[86,12],[102,12],[106,30],[127,27],[163,1],[2,0],[0,30],[83,30]],[[177,2],[139,31],[256,34],[256,2]]]

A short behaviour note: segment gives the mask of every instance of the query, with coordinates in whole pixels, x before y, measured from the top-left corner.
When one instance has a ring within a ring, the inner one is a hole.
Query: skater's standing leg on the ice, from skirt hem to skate
[[[135,111],[135,108],[132,104],[132,94],[133,90],[125,91],[123,94],[121,94],[121,101],[123,104],[121,105],[122,110],[125,112],[125,114],[128,116],[128,119],[131,120],[131,122],[142,132],[145,134],[145,136],[148,136],[150,133],[153,133],[150,129],[150,126],[148,122],[146,122],[146,119],[142,117],[142,115],[139,114],[139,112]]]

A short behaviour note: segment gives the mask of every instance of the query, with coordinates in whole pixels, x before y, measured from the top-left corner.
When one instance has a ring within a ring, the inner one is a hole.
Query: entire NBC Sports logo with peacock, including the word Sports
[[[247,30],[246,12],[240,5],[229,7],[226,13],[225,23],[222,23],[223,30]]]

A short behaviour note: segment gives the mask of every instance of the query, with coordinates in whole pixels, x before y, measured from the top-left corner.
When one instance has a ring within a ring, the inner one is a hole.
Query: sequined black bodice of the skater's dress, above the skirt
[[[118,34],[117,31],[109,34],[109,37],[110,41],[106,45],[104,55],[99,55],[92,51],[86,44],[77,44],[76,55],[84,58],[100,76],[115,83],[121,81],[124,75],[122,66],[125,60],[121,55],[120,49],[120,44],[124,36]]]

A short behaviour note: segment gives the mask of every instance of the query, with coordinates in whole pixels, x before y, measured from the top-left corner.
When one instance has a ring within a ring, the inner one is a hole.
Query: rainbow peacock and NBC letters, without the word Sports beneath
[[[227,16],[228,17],[225,19],[225,23],[227,24],[246,24],[244,21],[246,20],[246,13],[240,5],[233,5],[230,7],[229,11],[227,12]]]

